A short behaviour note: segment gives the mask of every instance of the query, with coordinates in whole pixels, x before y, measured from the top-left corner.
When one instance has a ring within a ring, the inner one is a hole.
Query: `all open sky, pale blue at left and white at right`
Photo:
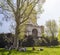
[[[38,25],[45,25],[46,21],[55,19],[57,24],[59,24],[60,17],[60,0],[46,0],[43,5],[44,12],[39,15],[40,18],[37,20]],[[0,21],[3,15],[0,15]],[[10,22],[3,23],[3,26],[0,27],[0,33],[9,32]]]

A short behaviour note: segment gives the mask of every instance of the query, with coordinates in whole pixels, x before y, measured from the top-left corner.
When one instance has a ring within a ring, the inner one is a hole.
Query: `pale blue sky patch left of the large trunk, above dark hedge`
[[[6,21],[2,21],[3,15],[0,14],[0,22],[3,22],[3,25],[0,26],[0,33],[6,33],[6,32],[10,32],[10,23],[11,22],[6,22]]]

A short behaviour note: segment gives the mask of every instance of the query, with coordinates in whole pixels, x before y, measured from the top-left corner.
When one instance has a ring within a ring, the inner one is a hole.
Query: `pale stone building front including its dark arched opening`
[[[44,26],[38,26],[34,24],[26,24],[26,35],[42,36],[44,32]]]

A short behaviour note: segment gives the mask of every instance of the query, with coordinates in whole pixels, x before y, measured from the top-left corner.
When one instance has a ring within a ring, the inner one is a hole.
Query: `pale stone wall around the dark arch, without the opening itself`
[[[26,35],[32,35],[32,30],[36,29],[38,32],[38,36],[41,36],[44,32],[44,26],[26,24]]]

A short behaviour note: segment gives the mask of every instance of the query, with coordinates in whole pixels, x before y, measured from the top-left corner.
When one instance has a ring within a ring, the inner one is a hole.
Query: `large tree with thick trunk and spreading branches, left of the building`
[[[4,14],[4,19],[8,20],[8,18],[14,17],[16,22],[14,37],[14,47],[16,49],[18,48],[18,39],[21,32],[20,26],[29,19],[30,14],[39,1],[43,4],[45,0],[0,0],[0,7],[3,10],[0,13]]]

